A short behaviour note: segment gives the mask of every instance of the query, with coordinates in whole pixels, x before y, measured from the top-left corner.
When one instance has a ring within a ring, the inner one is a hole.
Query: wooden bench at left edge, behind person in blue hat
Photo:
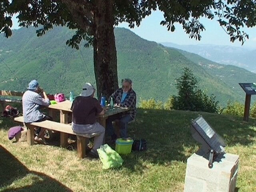
[[[0,90],[0,103],[2,105],[2,109],[4,110],[4,103],[6,102],[22,103],[23,94],[24,92]],[[17,97],[17,98],[10,98],[10,97]]]

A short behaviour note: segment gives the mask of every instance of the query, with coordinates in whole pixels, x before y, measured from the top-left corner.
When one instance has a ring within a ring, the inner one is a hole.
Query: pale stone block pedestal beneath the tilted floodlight
[[[223,154],[208,168],[202,150],[187,160],[184,192],[234,192],[238,173],[238,155]]]

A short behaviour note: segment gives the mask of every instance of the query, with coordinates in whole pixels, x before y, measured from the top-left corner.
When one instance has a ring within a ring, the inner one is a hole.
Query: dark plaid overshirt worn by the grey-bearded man
[[[136,93],[134,90],[130,89],[124,99],[124,102],[121,103],[122,95],[123,90],[122,88],[119,88],[110,96],[110,98],[113,97],[113,102],[120,104],[122,107],[129,107],[130,110],[128,112],[124,112],[122,116],[125,116],[128,113],[131,118],[134,119],[136,116]]]

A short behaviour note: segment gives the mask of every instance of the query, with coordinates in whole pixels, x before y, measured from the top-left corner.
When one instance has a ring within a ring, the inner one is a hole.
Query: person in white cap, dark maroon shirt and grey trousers
[[[86,83],[80,96],[76,97],[72,103],[72,129],[75,133],[92,134],[99,132],[94,137],[94,145],[90,150],[90,156],[98,158],[97,149],[103,143],[105,128],[96,122],[97,114],[103,115],[104,108],[100,102],[94,98],[95,89],[90,83]]]

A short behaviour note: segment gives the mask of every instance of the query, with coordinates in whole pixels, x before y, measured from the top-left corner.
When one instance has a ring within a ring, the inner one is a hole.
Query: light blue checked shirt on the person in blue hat
[[[49,99],[44,99],[40,94],[27,90],[22,96],[23,118],[25,123],[35,122],[45,117],[39,111],[40,106],[50,105]]]

